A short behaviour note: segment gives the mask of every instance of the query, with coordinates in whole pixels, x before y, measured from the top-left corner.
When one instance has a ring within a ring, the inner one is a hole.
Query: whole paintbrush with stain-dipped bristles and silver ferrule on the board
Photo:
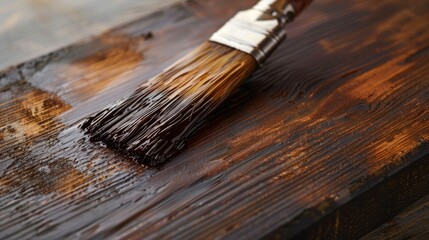
[[[156,165],[183,149],[213,112],[286,37],[284,26],[311,0],[261,0],[209,41],[81,125],[134,159]]]

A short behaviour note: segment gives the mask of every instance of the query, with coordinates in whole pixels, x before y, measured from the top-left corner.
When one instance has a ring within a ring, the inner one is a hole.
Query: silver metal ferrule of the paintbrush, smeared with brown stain
[[[261,0],[253,8],[238,12],[210,41],[246,52],[262,63],[286,37],[284,26],[293,16],[288,0]]]

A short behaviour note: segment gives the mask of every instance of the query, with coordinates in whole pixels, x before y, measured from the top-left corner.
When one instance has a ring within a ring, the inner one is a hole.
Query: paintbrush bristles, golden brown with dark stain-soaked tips
[[[156,165],[180,151],[256,66],[246,53],[205,42],[82,128],[92,140]]]

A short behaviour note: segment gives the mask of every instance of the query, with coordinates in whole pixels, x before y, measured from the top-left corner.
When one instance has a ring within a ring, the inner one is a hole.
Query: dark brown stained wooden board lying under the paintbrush
[[[316,1],[160,168],[82,118],[255,1],[192,1],[0,74],[0,235],[357,238],[429,192],[429,6]]]

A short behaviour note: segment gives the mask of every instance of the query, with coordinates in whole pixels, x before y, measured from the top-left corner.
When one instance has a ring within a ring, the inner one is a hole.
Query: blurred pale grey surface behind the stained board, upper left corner
[[[2,0],[0,69],[178,2],[181,0]]]

